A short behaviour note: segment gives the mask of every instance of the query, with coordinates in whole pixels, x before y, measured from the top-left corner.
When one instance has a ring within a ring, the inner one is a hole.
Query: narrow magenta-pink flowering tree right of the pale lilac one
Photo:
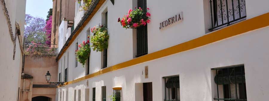
[[[48,45],[51,44],[51,24],[52,24],[52,16],[49,17],[45,25],[45,31],[46,31],[46,36],[47,36],[46,44]]]

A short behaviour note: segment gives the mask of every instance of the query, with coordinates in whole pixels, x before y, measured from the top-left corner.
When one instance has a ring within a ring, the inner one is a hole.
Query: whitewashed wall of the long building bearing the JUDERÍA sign
[[[150,8],[151,23],[148,24],[148,53],[153,53],[161,49],[180,44],[182,42],[203,36],[208,32],[208,18],[210,13],[205,5],[207,0],[147,0],[147,7]],[[269,12],[267,0],[252,1],[246,0],[247,19],[259,16]],[[259,6],[259,7],[258,7]],[[94,15],[87,26],[67,49],[61,59],[69,53],[68,62],[68,81],[85,76],[85,68],[80,63],[75,68],[75,43],[79,44],[86,40],[87,30],[102,22],[102,13],[108,11],[108,67],[133,59],[133,30],[124,29],[117,22],[117,18],[126,15],[130,8],[136,7],[136,0],[115,0],[113,5],[107,0],[98,12]],[[159,30],[159,23],[176,13],[183,12],[183,22]],[[83,16],[76,14],[75,25],[78,19]],[[208,20],[210,19],[210,20]],[[269,95],[269,88],[266,79],[268,68],[269,48],[266,47],[269,41],[269,28],[262,28],[251,31],[239,36],[224,39],[201,48],[166,56],[160,59],[144,62],[138,65],[130,66],[121,70],[113,71],[101,76],[88,79],[89,86],[86,86],[87,80],[67,85],[68,101],[73,101],[74,90],[81,89],[82,101],[85,94],[85,88],[90,88],[90,100],[92,99],[92,88],[96,87],[96,101],[101,99],[101,86],[107,86],[107,99],[112,94],[112,87],[122,86],[123,101],[135,101],[135,84],[142,82],[153,82],[153,100],[162,101],[163,81],[161,77],[180,75],[181,82],[181,100],[188,101],[209,101],[216,97],[213,88],[214,84],[211,77],[210,68],[217,68],[229,65],[245,64],[247,99],[249,101],[265,101]],[[91,33],[91,36],[93,34]],[[67,60],[67,59],[66,59]],[[61,63],[61,62],[59,62]],[[67,62],[66,62],[67,63]],[[144,66],[149,66],[149,79],[144,79],[142,71]],[[101,52],[91,50],[90,54],[90,74],[101,69]],[[255,71],[256,73],[253,73]],[[261,78],[261,79],[257,79]],[[63,76],[62,76],[62,79]],[[199,84],[199,85],[198,85]],[[260,89],[262,88],[262,89]],[[78,95],[78,94],[76,94]],[[189,96],[191,95],[191,96]],[[195,95],[195,97],[193,97]]]

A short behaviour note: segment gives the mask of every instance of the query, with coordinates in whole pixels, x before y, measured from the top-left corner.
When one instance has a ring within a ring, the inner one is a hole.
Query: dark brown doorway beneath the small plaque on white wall
[[[144,101],[152,101],[152,82],[143,83]]]

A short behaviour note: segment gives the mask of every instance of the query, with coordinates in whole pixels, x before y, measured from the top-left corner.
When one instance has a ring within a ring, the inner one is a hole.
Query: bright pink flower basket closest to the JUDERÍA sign
[[[118,19],[118,22],[120,22],[123,28],[137,28],[150,23],[149,8],[147,8],[146,11],[142,10],[141,7],[135,9],[136,10],[130,9],[127,15],[124,15],[122,19]]]

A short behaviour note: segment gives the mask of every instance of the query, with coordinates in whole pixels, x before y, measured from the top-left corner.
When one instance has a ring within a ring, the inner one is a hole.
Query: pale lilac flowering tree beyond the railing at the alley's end
[[[26,42],[40,42],[44,43],[45,35],[45,20],[39,17],[33,17],[30,14],[25,14],[25,31],[24,36]]]

